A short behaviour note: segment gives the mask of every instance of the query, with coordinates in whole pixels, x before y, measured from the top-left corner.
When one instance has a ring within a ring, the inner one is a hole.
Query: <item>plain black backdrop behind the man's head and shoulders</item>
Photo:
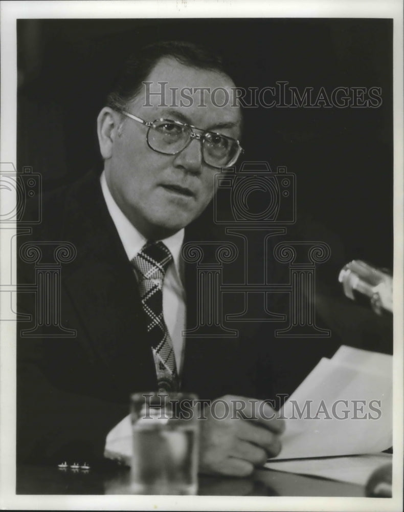
[[[17,166],[52,189],[99,163],[96,117],[118,67],[159,39],[203,42],[240,87],[380,87],[379,108],[244,112],[244,160],[297,175],[298,215],[338,233],[347,261],[392,267],[390,19],[18,20]],[[241,162],[242,163],[242,160]]]

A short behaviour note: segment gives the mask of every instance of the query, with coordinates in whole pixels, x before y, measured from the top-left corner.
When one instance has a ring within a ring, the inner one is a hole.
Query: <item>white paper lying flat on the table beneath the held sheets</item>
[[[365,485],[370,475],[381,466],[389,464],[392,455],[354,455],[350,457],[325,457],[320,459],[295,459],[268,461],[270,470],[319,476],[342,482]]]

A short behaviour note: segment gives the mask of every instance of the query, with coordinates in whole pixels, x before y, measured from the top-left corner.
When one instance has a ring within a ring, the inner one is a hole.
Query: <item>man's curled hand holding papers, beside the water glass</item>
[[[245,477],[281,450],[284,421],[268,403],[226,395],[206,406],[204,417],[200,420],[201,473]]]

